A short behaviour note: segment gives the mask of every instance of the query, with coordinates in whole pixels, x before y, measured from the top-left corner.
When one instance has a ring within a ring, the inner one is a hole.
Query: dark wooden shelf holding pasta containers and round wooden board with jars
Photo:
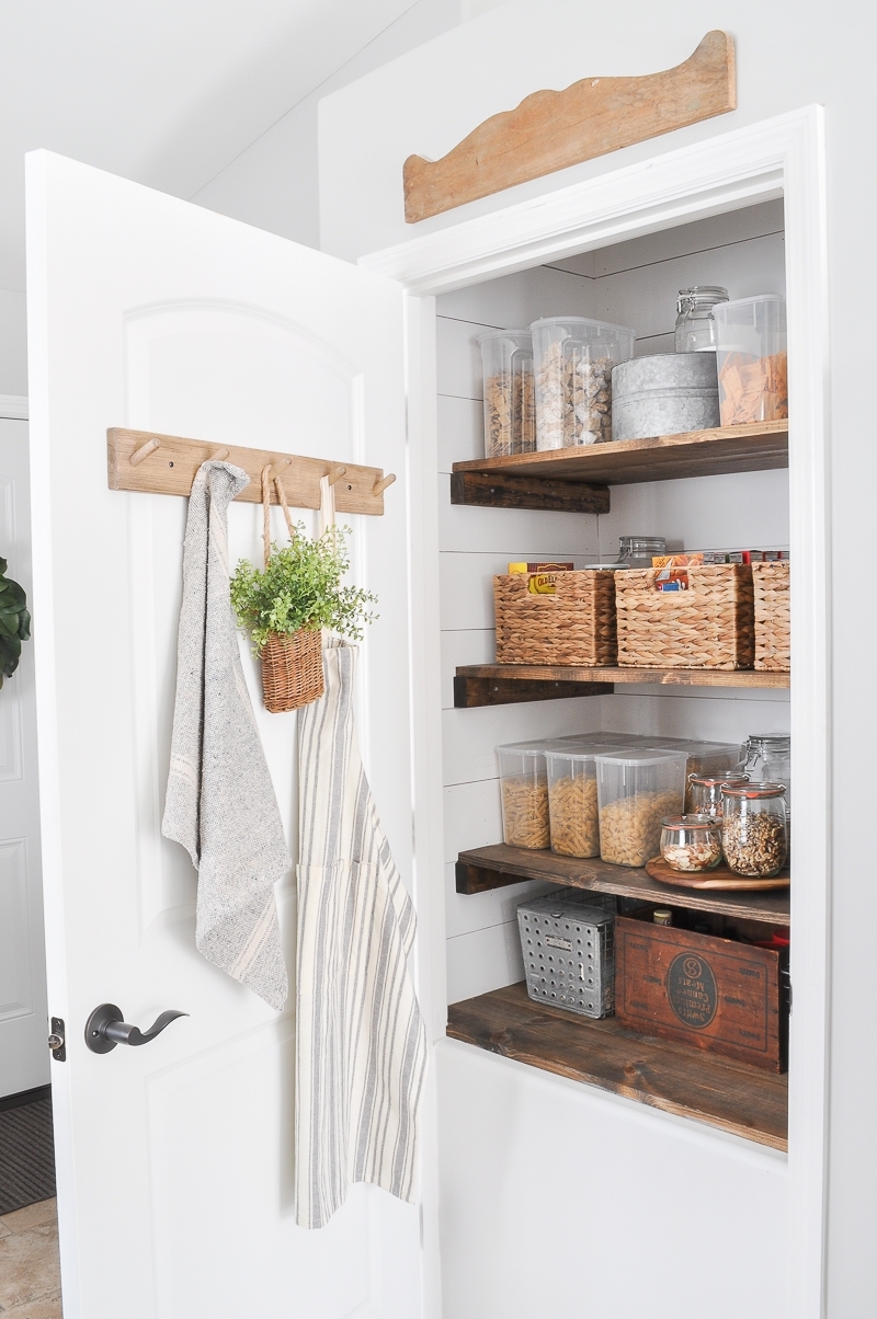
[[[666,906],[689,907],[693,911],[719,911],[737,919],[789,925],[789,889],[767,893],[721,893],[715,889],[676,889],[658,884],[645,871],[609,861],[580,860],[556,852],[535,852],[526,847],[495,843],[461,852],[457,860],[457,893],[485,893],[489,889],[543,880],[594,893],[614,893],[623,898],[641,898]]]

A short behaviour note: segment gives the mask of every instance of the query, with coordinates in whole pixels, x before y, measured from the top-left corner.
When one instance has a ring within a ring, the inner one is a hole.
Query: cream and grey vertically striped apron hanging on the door
[[[408,897],[353,727],[355,646],[330,638],[326,690],[298,721],[296,1221],[320,1228],[351,1182],[411,1200],[427,1039],[408,975]]]

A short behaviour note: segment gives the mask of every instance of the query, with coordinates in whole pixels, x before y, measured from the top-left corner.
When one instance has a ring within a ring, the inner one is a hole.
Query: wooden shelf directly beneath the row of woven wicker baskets
[[[791,674],[755,669],[585,669],[563,665],[475,663],[454,675],[454,706],[505,706],[520,700],[600,696],[617,683],[660,683],[668,687],[786,689]]]

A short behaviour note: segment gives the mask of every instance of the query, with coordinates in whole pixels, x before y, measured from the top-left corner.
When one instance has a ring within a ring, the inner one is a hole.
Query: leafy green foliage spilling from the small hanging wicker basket
[[[256,653],[271,632],[293,633],[301,628],[332,628],[361,641],[365,624],[376,617],[367,611],[367,605],[378,603],[371,591],[341,584],[350,566],[343,542],[350,528],[330,528],[316,541],[302,534],[304,522],[296,532],[289,545],[272,546],[268,567],[255,568],[240,559],[231,579],[231,604]]]

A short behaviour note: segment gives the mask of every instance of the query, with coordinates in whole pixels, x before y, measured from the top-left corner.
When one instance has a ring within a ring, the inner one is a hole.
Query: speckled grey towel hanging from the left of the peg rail
[[[228,504],[248,483],[239,467],[207,462],[189,496],[161,832],[198,871],[199,952],[280,1009],[288,985],[273,886],[292,860],[228,596]]]

